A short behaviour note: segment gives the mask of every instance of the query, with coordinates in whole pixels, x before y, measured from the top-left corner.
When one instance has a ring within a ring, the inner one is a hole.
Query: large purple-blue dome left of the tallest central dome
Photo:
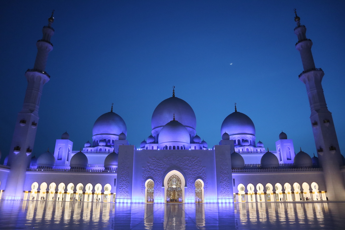
[[[93,124],[92,135],[99,134],[111,134],[119,135],[121,132],[124,132],[127,135],[127,126],[124,121],[118,114],[114,112],[107,112],[101,115]]]

